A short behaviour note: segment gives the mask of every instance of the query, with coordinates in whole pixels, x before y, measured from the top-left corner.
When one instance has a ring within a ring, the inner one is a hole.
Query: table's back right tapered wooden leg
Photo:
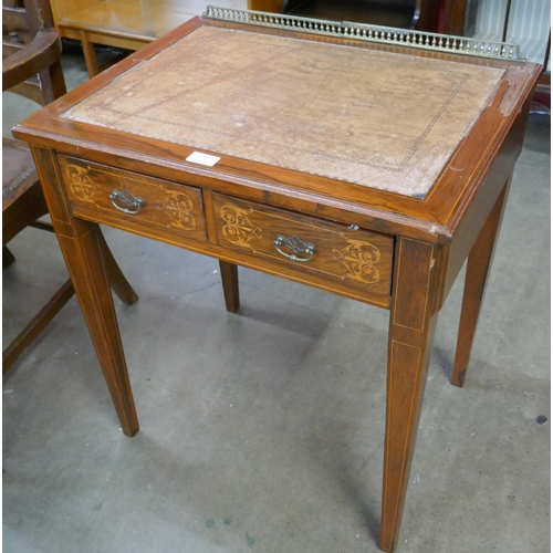
[[[480,231],[467,261],[465,292],[462,296],[461,320],[457,338],[457,351],[451,384],[461,387],[465,383],[470,351],[477,330],[478,317],[483,302],[486,283],[493,259],[493,250],[505,205],[509,182],[499,195],[488,219]]]

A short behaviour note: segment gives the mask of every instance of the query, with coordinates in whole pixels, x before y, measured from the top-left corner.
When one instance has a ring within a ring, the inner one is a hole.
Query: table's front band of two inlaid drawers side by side
[[[395,237],[69,156],[73,216],[388,309]]]

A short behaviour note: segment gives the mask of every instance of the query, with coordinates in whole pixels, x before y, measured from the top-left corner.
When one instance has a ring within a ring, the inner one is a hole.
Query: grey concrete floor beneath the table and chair
[[[532,115],[463,389],[462,275],[440,314],[398,553],[550,551],[550,181]],[[140,431],[72,300],[3,380],[3,551],[377,552],[387,312],[240,270],[229,314],[217,261],[105,234],[140,296],[115,302]],[[4,343],[66,278],[53,236],[10,248]]]

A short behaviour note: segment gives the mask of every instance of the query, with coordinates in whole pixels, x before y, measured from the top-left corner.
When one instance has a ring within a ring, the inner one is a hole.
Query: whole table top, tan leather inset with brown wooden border
[[[144,175],[450,241],[501,152],[515,158],[508,138],[515,124],[523,132],[519,114],[541,73],[462,54],[195,18],[13,133]],[[194,152],[219,159],[197,164]]]

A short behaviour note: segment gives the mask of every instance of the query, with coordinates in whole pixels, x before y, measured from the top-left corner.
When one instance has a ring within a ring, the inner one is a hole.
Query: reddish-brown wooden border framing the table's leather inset
[[[207,23],[213,25],[220,22],[209,21]],[[508,136],[518,115],[522,113],[524,98],[531,93],[540,74],[540,67],[534,64],[524,64],[524,71],[520,72],[520,64],[503,61],[427,53],[406,48],[362,43],[361,41],[343,41],[348,45],[355,45],[363,50],[393,51],[407,53],[416,58],[438,58],[457,63],[484,64],[507,70],[495,97],[459,144],[424,200],[229,156],[225,156],[213,168],[201,168],[184,163],[184,159],[195,150],[192,147],[161,139],[111,132],[109,129],[101,129],[97,126],[59,118],[60,114],[81,102],[84,97],[94,94],[112,80],[156,55],[164,48],[169,48],[184,34],[194,33],[202,24],[206,24],[206,22],[202,23],[200,19],[189,21],[182,28],[175,30],[124,60],[112,69],[108,74],[101,74],[97,80],[86,83],[74,94],[69,94],[66,100],[60,102],[56,106],[36,114],[28,122],[28,125],[33,127],[33,139],[42,146],[56,147],[55,145],[60,144],[60,138],[66,136],[67,139],[61,140],[61,147],[67,154],[74,155],[84,149],[88,150],[97,160],[112,158],[117,164],[126,165],[131,170],[138,170],[139,168],[139,173],[155,174],[156,176],[166,173],[168,176],[171,175],[168,178],[176,178],[177,175],[181,175],[180,171],[186,171],[190,182],[192,180],[206,182],[210,178],[216,189],[217,187],[227,187],[229,181],[239,182],[242,196],[257,194],[255,189],[271,188],[275,195],[290,196],[290,201],[294,201],[298,196],[304,194],[305,197],[315,195],[321,200],[305,206],[306,209],[312,209],[314,215],[319,205],[332,209],[332,206],[335,206],[336,202],[342,202],[347,205],[347,210],[353,213],[363,211],[364,217],[373,219],[375,227],[371,227],[373,223],[363,222],[362,225],[365,228],[368,226],[368,228],[382,231],[383,227],[386,226],[393,228],[394,232],[400,232],[405,236],[410,234],[413,238],[422,238],[424,236],[428,241],[447,243],[451,241],[469,199],[480,187],[501,144]],[[231,24],[225,23],[225,25],[230,27]],[[234,27],[242,29],[247,25],[234,24]],[[255,29],[255,32],[274,34],[272,30],[264,29]],[[340,42],[338,39],[313,36],[305,33],[289,32],[288,34],[316,42],[322,40],[332,43]],[[509,111],[504,112],[500,109],[501,98],[504,96],[507,88],[511,86],[517,90],[518,100],[511,102]],[[105,146],[102,150],[94,146],[94,142],[98,140]],[[76,149],[76,144],[79,149]],[[212,154],[217,155],[218,153]],[[357,221],[352,222],[358,225]]]

